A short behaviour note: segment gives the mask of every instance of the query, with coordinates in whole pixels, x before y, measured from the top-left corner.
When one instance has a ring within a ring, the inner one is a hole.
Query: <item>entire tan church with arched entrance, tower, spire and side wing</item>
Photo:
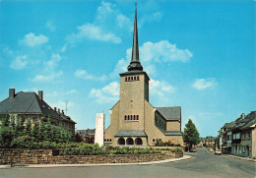
[[[157,140],[183,146],[181,107],[154,107],[150,103],[147,72],[139,58],[137,8],[135,9],[132,57],[120,75],[120,96],[110,109],[110,126],[104,132],[109,146],[154,147]]]

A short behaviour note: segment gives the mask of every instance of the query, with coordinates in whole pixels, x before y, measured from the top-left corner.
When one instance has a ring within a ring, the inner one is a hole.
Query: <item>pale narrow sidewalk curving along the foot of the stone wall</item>
[[[135,162],[135,163],[103,163],[103,164],[28,164],[28,165],[13,165],[14,167],[22,168],[50,168],[50,167],[88,167],[88,166],[112,166],[112,165],[150,165],[166,162],[176,162],[186,159],[191,159],[192,156],[184,155],[179,158],[171,158],[152,162]],[[0,169],[11,168],[11,165],[0,165]]]

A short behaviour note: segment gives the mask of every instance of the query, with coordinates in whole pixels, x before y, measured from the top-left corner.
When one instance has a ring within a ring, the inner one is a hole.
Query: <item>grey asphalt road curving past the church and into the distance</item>
[[[88,178],[88,177],[224,177],[254,178],[256,163],[215,155],[200,148],[192,159],[152,165],[0,169],[0,178]]]

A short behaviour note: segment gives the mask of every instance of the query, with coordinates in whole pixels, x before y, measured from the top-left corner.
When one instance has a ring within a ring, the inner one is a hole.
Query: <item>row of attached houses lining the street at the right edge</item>
[[[256,111],[241,114],[219,131],[216,146],[223,153],[256,158]]]

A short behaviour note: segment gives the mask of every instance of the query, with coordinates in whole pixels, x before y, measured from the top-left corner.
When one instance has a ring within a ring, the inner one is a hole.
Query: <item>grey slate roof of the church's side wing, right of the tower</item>
[[[181,106],[156,107],[166,120],[181,120]]]

